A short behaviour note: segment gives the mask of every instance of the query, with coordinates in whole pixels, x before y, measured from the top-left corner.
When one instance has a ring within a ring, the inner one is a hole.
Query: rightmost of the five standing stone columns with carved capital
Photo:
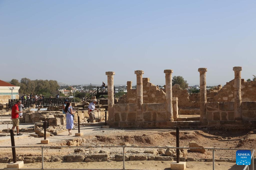
[[[235,79],[234,79],[234,109],[235,109],[235,120],[241,120],[242,110],[242,97],[241,97],[241,71],[242,67],[233,67],[233,71],[235,72]]]

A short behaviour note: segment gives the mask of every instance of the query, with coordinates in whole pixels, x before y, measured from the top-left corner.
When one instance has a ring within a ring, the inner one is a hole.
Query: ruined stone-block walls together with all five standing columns
[[[164,70],[166,88],[142,78],[144,71],[135,71],[137,89],[127,82],[127,95],[114,103],[114,75],[108,76],[108,123],[114,127],[206,127],[256,125],[256,82],[241,79],[241,67],[234,67],[235,79],[212,90],[206,90],[207,68],[199,68],[200,93],[189,95],[179,85],[172,86],[173,70]],[[208,98],[207,98],[208,96]],[[243,96],[243,98],[242,98]],[[208,100],[208,101],[207,101]],[[178,109],[189,109],[200,114],[200,121],[177,121]]]

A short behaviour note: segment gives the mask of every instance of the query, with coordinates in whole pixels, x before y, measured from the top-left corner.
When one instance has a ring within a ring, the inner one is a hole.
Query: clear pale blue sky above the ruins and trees
[[[199,84],[226,84],[232,68],[256,74],[256,1],[3,1],[1,80],[136,84],[135,70],[157,85],[165,69]]]

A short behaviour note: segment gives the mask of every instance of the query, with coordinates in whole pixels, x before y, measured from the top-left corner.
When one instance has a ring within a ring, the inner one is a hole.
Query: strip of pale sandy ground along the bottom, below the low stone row
[[[41,168],[42,163],[24,164],[22,169],[26,168]],[[254,167],[256,164],[254,164]],[[212,162],[186,162],[188,170],[210,170]],[[6,163],[0,163],[0,168],[6,168]],[[122,169],[123,162],[45,162],[44,168],[52,169]],[[242,170],[244,166],[236,165],[230,162],[215,162],[216,170]],[[150,170],[170,170],[170,161],[126,161],[125,169],[150,169]],[[251,169],[251,166],[249,167]]]

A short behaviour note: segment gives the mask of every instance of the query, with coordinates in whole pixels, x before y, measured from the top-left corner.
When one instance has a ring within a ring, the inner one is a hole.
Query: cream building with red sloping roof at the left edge
[[[19,86],[0,80],[0,103],[8,103],[9,99],[19,99],[19,88]]]

